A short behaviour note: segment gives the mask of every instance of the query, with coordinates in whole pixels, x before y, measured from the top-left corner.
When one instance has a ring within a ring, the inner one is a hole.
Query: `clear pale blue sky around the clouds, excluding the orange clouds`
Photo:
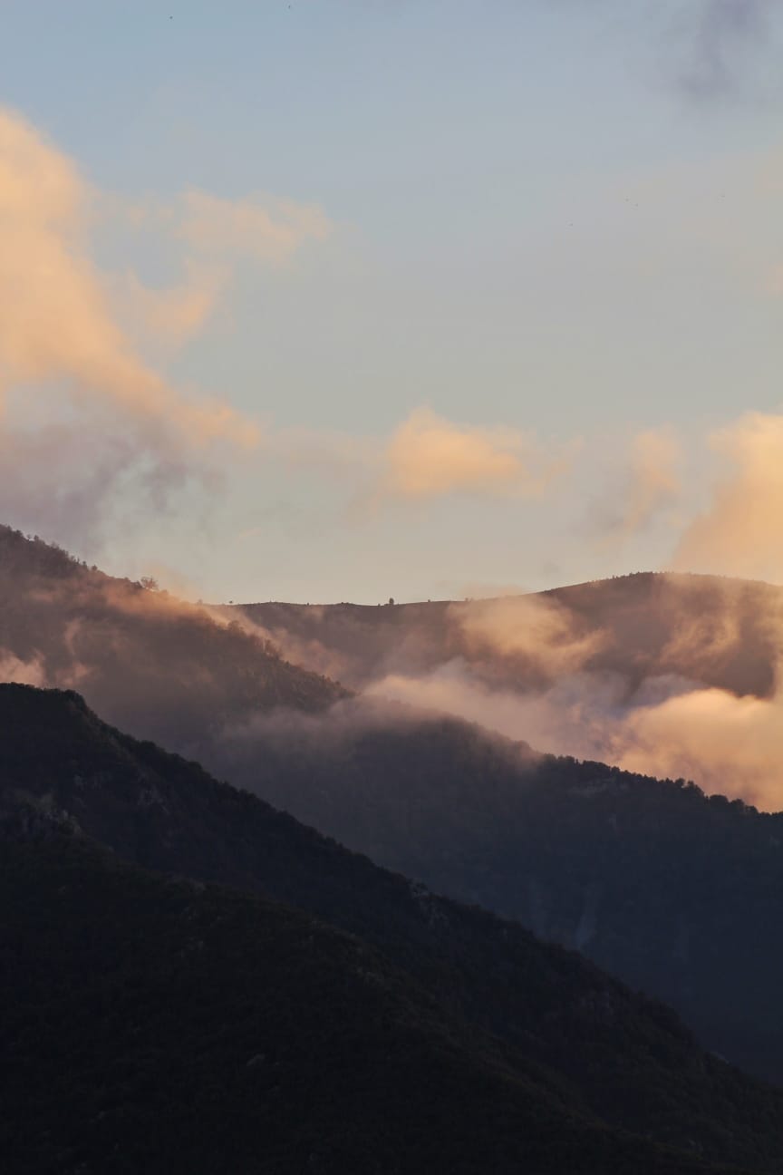
[[[200,192],[329,223],[284,258],[231,246],[201,328],[140,343],[183,395],[271,439],[221,449],[207,490],[133,524],[58,533],[23,498],[7,521],[209,598],[427,598],[667,565],[730,476],[709,437],[779,408],[771,7],[6,0],[0,103],[107,207]],[[97,220],[102,274],[183,280],[176,242]],[[383,474],[379,494],[374,466],[421,409],[482,444],[534,436],[558,474],[535,492],[471,475],[399,494]],[[650,431],[671,469],[608,525]],[[695,570],[754,570],[710,550]]]

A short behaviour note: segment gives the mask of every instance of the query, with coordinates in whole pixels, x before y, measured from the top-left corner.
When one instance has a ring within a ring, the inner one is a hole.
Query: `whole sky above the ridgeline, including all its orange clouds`
[[[1,521],[210,600],[783,580],[783,6],[1,9]]]

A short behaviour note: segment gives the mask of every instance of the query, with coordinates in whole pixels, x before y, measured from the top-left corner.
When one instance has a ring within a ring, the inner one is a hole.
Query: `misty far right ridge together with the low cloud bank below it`
[[[232,611],[376,705],[783,806],[783,593],[770,585],[661,573],[491,600]]]

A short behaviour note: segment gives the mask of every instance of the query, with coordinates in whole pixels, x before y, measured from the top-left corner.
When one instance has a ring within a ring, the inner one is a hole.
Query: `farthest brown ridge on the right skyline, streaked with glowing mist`
[[[513,690],[540,689],[578,669],[619,674],[629,691],[676,674],[767,697],[783,592],[717,576],[640,572],[498,599],[271,602],[225,612],[243,615],[298,663],[355,689],[458,662],[484,684]]]

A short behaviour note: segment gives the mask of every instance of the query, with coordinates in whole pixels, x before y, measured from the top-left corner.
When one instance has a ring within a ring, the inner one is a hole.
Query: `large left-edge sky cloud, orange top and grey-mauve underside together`
[[[18,113],[0,107],[0,492],[32,530],[82,550],[129,503],[162,509],[187,485],[214,489],[230,445],[258,424],[175,387],[140,342],[180,347],[212,314],[241,256],[281,262],[329,223],[318,209],[187,193],[129,210],[103,196]],[[102,270],[96,227],[124,217],[183,254],[183,277],[150,288]],[[216,448],[216,445],[218,448]]]

